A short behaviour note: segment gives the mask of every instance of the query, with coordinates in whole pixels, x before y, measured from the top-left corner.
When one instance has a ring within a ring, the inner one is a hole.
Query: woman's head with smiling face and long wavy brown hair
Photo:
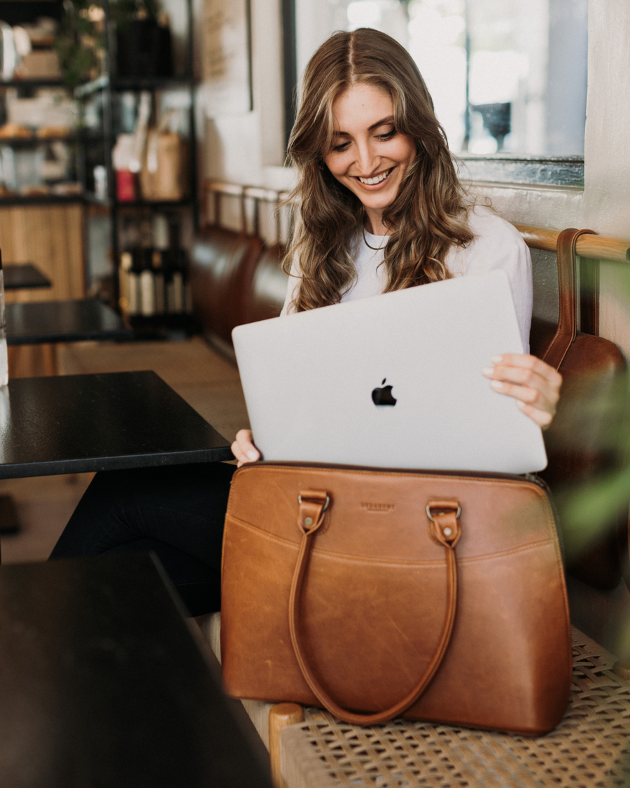
[[[291,251],[304,274],[295,310],[353,289],[362,230],[390,236],[377,244],[386,244],[386,275],[376,292],[452,275],[447,253],[474,235],[463,191],[417,65],[390,36],[360,28],[317,50],[288,153],[302,217]]]

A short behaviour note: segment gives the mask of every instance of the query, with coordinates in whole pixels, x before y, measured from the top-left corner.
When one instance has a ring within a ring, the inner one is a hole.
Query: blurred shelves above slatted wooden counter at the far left
[[[39,17],[58,23],[62,13],[61,0],[0,0],[2,258],[35,262],[53,283],[50,289],[7,292],[7,301],[85,295],[81,143],[72,90],[61,79],[52,36],[32,39],[32,54],[21,60],[13,54],[15,69],[11,62],[13,26],[35,26]]]

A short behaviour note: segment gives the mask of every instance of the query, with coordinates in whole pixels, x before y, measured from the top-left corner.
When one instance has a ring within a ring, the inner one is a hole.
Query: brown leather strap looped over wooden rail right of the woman
[[[543,361],[556,370],[560,367],[566,352],[577,335],[577,272],[576,272],[576,241],[593,230],[562,230],[556,244],[558,256],[558,329]]]

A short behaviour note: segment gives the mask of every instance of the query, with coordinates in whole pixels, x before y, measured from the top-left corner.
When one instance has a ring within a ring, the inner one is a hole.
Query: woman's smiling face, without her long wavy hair
[[[365,207],[376,235],[387,234],[383,211],[391,205],[407,167],[416,158],[413,137],[394,127],[391,98],[378,87],[357,84],[332,105],[334,134],[324,162]]]

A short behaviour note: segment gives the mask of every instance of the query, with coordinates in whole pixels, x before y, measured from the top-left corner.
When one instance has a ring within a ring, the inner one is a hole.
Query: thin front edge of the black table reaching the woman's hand
[[[54,463],[19,463],[0,465],[0,478],[19,479],[29,476],[59,476],[62,474],[84,474],[101,470],[127,470],[129,468],[154,468],[165,465],[188,465],[192,463],[221,463],[235,459],[229,444],[214,448],[198,449],[195,452],[169,453],[168,455],[128,455],[122,457],[82,457],[80,459],[56,460]]]

